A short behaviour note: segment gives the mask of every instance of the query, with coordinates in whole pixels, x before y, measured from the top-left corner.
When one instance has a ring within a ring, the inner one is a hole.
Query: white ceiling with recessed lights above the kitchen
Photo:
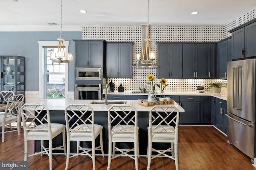
[[[256,0],[150,0],[149,25],[226,25],[254,8]],[[62,0],[62,27],[147,24],[147,9],[148,0]],[[21,27],[60,29],[60,0],[0,0],[0,31]]]

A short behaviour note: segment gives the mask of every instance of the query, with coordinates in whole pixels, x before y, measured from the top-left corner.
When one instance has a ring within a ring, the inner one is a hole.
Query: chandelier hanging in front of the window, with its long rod
[[[56,53],[50,54],[52,65],[53,63],[69,63],[69,65],[71,65],[71,62],[73,61],[73,53],[68,53],[68,59],[66,59],[65,47],[63,44],[65,39],[62,38],[62,0],[60,0],[60,38],[57,40],[59,41],[58,50]]]

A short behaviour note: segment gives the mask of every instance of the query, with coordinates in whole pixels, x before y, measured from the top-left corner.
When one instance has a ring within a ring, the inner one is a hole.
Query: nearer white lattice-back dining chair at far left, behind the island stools
[[[24,95],[17,94],[8,98],[4,114],[0,115],[0,126],[2,126],[2,142],[4,142],[5,125],[17,122],[17,131],[20,135],[20,107],[23,105]],[[11,127],[11,125],[10,125]],[[12,130],[12,129],[11,129]]]

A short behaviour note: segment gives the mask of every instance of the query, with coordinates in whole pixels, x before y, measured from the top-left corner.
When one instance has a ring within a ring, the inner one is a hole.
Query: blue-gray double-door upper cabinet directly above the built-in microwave
[[[75,67],[102,67],[106,54],[104,40],[74,40]]]

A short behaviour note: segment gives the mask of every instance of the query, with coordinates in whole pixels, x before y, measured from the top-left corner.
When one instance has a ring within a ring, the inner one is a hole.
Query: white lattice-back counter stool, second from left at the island
[[[102,156],[104,156],[104,151],[103,126],[94,124],[93,108],[85,104],[71,104],[65,109],[65,120],[67,130],[66,170],[68,169],[69,159],[81,154],[86,154],[92,158],[92,167],[95,170],[95,150],[101,150]],[[100,136],[100,146],[95,147],[95,140],[98,136]],[[72,156],[70,156],[70,141],[77,141],[77,151]],[[80,141],[89,141],[92,147],[82,147]]]

